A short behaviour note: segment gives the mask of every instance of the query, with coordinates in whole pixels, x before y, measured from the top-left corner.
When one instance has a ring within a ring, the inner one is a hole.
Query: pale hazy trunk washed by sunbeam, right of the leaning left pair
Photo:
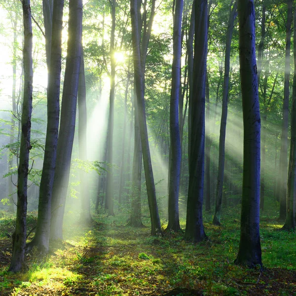
[[[83,47],[81,48],[81,63],[78,80],[78,150],[79,159],[87,160],[87,110],[86,110],[86,87],[85,87],[85,71]],[[80,177],[80,198],[81,198],[81,213],[80,221],[84,224],[92,222],[90,214],[89,186],[87,173],[83,170],[79,172]]]

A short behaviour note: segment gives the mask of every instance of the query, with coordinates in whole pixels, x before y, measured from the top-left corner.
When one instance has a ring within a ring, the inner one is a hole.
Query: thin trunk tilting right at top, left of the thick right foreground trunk
[[[219,139],[218,179],[217,179],[215,214],[213,219],[213,224],[215,225],[221,224],[220,219],[221,219],[224,161],[225,161],[225,137],[226,137],[226,122],[227,122],[227,108],[228,108],[227,105],[228,105],[228,85],[229,85],[229,69],[230,69],[230,47],[231,47],[232,32],[234,27],[234,20],[237,15],[236,11],[237,11],[237,3],[235,2],[232,9],[230,5],[229,21],[228,21],[228,28],[226,33],[222,114],[221,114],[220,139]]]

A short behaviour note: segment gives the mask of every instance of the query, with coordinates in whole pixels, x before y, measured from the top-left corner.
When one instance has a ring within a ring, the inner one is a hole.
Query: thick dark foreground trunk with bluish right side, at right
[[[262,266],[259,233],[260,111],[253,0],[238,0],[239,61],[244,122],[241,233],[236,264]]]

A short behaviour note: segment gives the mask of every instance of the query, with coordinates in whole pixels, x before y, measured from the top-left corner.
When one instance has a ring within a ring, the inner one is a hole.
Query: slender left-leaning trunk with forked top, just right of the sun
[[[145,36],[142,37],[142,46],[140,46],[140,31],[139,31],[139,17],[138,9],[140,9],[137,0],[131,0],[131,21],[132,21],[132,43],[133,43],[133,60],[134,60],[134,73],[135,73],[135,86],[138,104],[138,116],[140,136],[143,152],[143,162],[147,186],[148,205],[151,219],[151,234],[161,232],[160,219],[158,214],[158,207],[156,202],[156,192],[151,164],[151,156],[148,142],[148,131],[145,111],[145,65],[148,50],[149,37],[152,30],[152,21],[155,10],[155,0],[152,1],[150,12],[150,19],[148,28],[145,31]],[[146,7],[145,7],[146,9]],[[140,52],[141,47],[141,52]],[[142,57],[141,57],[142,54]]]

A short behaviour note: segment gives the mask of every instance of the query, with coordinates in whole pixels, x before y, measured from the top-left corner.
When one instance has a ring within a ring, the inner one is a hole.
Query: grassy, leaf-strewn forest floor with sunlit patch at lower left
[[[0,215],[1,296],[296,295],[296,232],[280,231],[276,217],[261,217],[263,270],[233,264],[239,210],[226,209],[220,227],[205,214],[209,240],[199,244],[184,241],[182,233],[152,237],[148,227],[126,226],[127,216],[119,214],[96,216],[83,229],[68,222],[59,248],[47,257],[34,249],[26,256],[28,271],[12,274],[5,233],[13,232],[14,220]],[[35,224],[32,213],[28,229]]]

